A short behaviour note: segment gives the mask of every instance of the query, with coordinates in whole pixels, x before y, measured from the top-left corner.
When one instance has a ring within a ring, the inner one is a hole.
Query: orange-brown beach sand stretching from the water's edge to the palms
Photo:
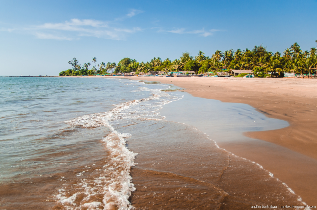
[[[285,182],[308,205],[316,205],[317,80],[206,77],[129,79],[174,84],[196,97],[249,104],[268,117],[288,121],[290,126],[286,128],[245,133],[255,141],[217,144],[240,157],[256,161]]]

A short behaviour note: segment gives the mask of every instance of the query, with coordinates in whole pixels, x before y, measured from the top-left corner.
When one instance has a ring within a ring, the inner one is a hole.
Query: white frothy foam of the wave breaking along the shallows
[[[110,130],[110,134],[101,141],[109,154],[100,175],[93,179],[80,179],[76,183],[76,191],[68,190],[67,186],[58,190],[55,198],[64,208],[95,209],[103,207],[104,209],[120,210],[133,208],[128,200],[131,192],[135,190],[133,183],[131,183],[130,169],[136,164],[134,159],[137,153],[133,153],[126,147],[126,138],[130,137],[131,134],[120,133],[116,128],[144,120],[165,119],[164,116],[158,115],[157,110],[166,103],[184,97],[183,95],[161,92],[161,89],[145,87],[139,87],[135,91],[150,91],[152,95],[139,100],[115,104],[115,108],[108,112],[83,115],[66,121],[72,126],[82,128],[104,126]],[[76,176],[81,177],[84,173],[86,172],[83,171]],[[94,199],[97,195],[99,197],[102,195],[102,202]],[[78,203],[76,200],[79,198],[81,202]]]

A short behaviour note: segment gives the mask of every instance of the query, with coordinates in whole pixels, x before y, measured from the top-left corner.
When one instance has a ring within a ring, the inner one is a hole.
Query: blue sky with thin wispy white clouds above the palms
[[[15,1],[0,0],[0,75],[58,75],[129,57],[175,60],[199,50],[283,52],[316,47],[317,0]]]

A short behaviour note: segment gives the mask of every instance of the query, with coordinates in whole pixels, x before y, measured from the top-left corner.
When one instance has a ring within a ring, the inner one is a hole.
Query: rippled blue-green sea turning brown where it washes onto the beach
[[[174,86],[118,78],[0,81],[0,209],[302,205],[259,164],[219,148],[190,123],[166,120],[164,105],[190,97],[166,91]],[[238,124],[230,130],[223,136],[241,134]]]

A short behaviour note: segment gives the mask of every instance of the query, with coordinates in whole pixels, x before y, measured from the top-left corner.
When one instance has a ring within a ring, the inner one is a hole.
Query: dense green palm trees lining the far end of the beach
[[[315,41],[317,43],[317,40]],[[286,49],[281,55],[280,52],[268,52],[266,47],[255,46],[252,50],[237,49],[221,52],[217,50],[211,58],[199,51],[197,56],[192,57],[190,53],[184,52],[179,59],[171,61],[166,58],[164,61],[160,57],[153,58],[150,62],[137,62],[130,58],[123,58],[118,64],[107,64],[101,62],[97,64],[97,59],[93,57],[94,63],[84,63],[83,66],[73,58],[68,63],[72,69],[62,71],[60,76],[68,75],[93,75],[126,72],[148,72],[148,71],[195,71],[197,73],[229,71],[230,69],[253,70],[257,77],[282,77],[283,72],[306,74],[310,68],[316,68],[317,50],[312,47],[309,51],[301,50],[297,43]],[[225,66],[225,68],[224,68]]]

